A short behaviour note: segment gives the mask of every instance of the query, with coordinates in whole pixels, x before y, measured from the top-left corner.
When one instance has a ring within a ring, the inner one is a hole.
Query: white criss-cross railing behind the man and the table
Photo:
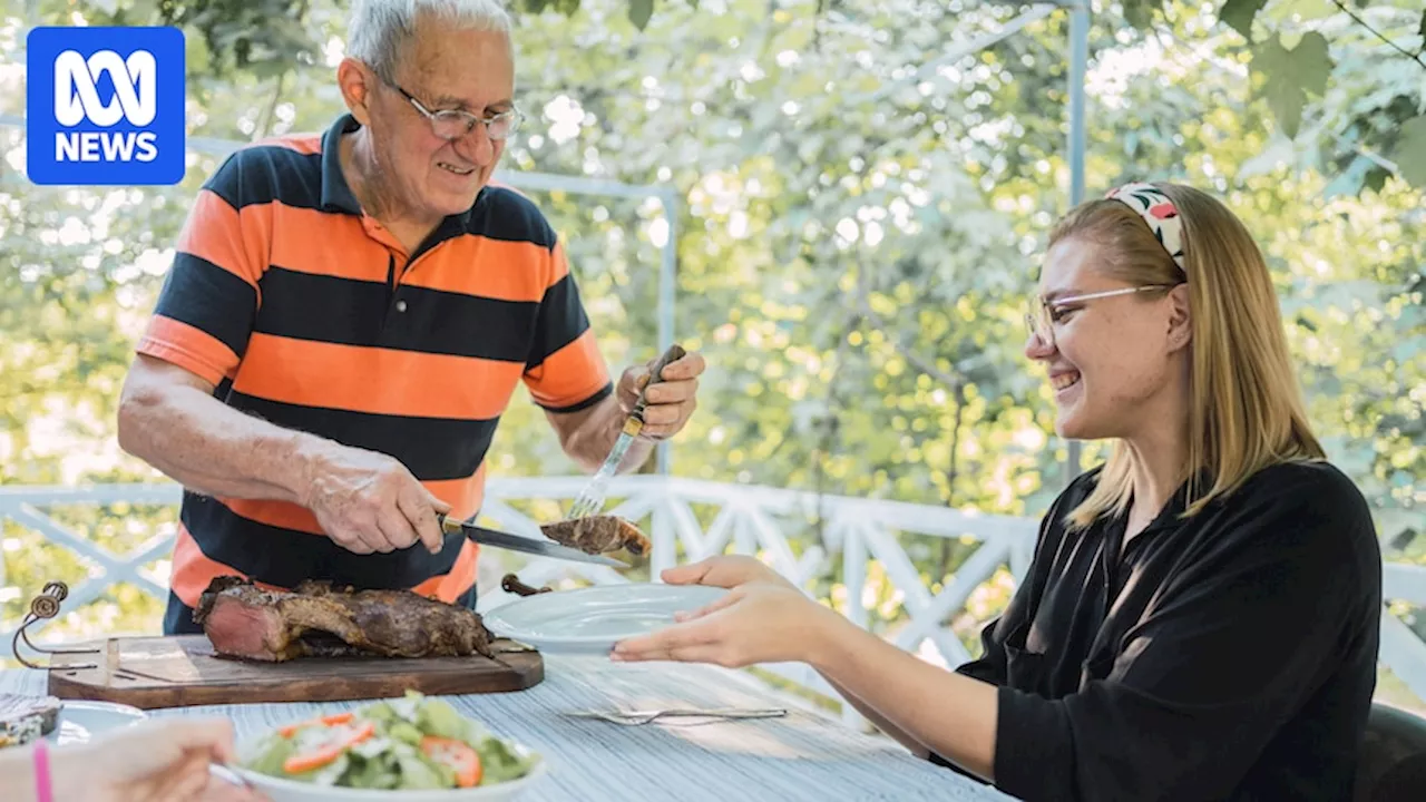
[[[559,502],[575,498],[585,481],[582,477],[492,478],[482,518],[506,531],[542,537],[536,519],[516,507],[526,502],[545,504],[552,515],[558,514]],[[650,575],[655,578],[660,569],[676,562],[732,551],[759,555],[806,589],[840,564],[846,594],[837,599],[837,608],[858,626],[881,631],[886,621],[864,598],[868,591],[867,568],[878,565],[887,585],[894,589],[900,606],[906,611],[898,626],[883,634],[900,648],[943,665],[957,665],[971,656],[944,621],[963,612],[971,594],[991,579],[1001,567],[1008,569],[1012,581],[1020,581],[1028,567],[1037,529],[1037,522],[1030,518],[967,514],[944,507],[897,501],[819,497],[800,491],[677,477],[620,477],[610,482],[609,494],[609,512],[645,522],[647,527],[646,531],[653,541]],[[64,609],[83,606],[117,582],[133,582],[163,599],[167,598],[163,578],[148,575],[143,568],[167,557],[173,542],[171,532],[155,535],[128,555],[114,555],[66,529],[46,515],[44,509],[77,504],[177,504],[180,489],[171,484],[11,487],[0,488],[0,521],[9,518],[27,527],[94,565],[90,577],[71,588]],[[699,522],[699,505],[706,505],[706,515],[712,515],[707,525]],[[806,537],[789,537],[790,529],[803,529],[813,519],[821,522],[823,542],[806,542],[809,539]],[[917,538],[953,538],[978,545],[951,575],[944,578],[941,589],[933,592],[907,554],[908,545]],[[800,554],[796,551],[799,545]],[[831,562],[833,559],[837,562]],[[617,571],[605,567],[485,549],[481,559],[482,609],[508,601],[509,597],[499,588],[499,577],[509,571],[518,571],[525,584],[535,587],[629,581]],[[4,584],[3,564],[0,564],[0,585]],[[33,595],[39,589],[21,591]],[[1426,605],[1426,568],[1387,562],[1385,595],[1389,601]],[[10,632],[0,632],[0,636],[9,644]],[[1426,644],[1392,614],[1383,615],[1380,658],[1412,692],[1426,698]],[[779,664],[763,668],[837,698],[836,692],[807,666]],[[848,724],[857,722],[850,705],[843,706],[843,715]]]

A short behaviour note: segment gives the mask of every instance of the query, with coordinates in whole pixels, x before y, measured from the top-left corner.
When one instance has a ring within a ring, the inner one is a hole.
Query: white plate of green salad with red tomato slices
[[[449,704],[406,691],[401,699],[279,726],[242,766],[315,785],[418,791],[508,782],[538,759]]]

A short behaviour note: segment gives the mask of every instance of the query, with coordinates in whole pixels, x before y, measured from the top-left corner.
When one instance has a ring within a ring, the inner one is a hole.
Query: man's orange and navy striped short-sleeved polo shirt
[[[415,251],[362,213],[338,141],[265,140],[204,184],[137,350],[215,385],[224,404],[278,427],[399,460],[466,518],[481,507],[485,454],[518,384],[550,411],[613,390],[540,211],[488,186]],[[185,491],[171,589],[187,606],[222,574],[272,588],[331,579],[455,601],[475,582],[476,547],[446,535],[359,555],[284,501]]]

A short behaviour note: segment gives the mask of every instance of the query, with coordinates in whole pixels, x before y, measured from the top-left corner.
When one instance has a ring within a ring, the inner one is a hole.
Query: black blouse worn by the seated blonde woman
[[[1122,548],[1055,499],[985,654],[995,785],[1041,799],[1348,801],[1376,685],[1382,557],[1325,462],[1276,465],[1189,519],[1184,491]],[[937,762],[947,765],[938,756]]]

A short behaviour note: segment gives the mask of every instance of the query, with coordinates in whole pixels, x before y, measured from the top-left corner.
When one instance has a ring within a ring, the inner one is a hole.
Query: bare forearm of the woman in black
[[[841,621],[807,662],[904,738],[994,782],[998,689]]]

